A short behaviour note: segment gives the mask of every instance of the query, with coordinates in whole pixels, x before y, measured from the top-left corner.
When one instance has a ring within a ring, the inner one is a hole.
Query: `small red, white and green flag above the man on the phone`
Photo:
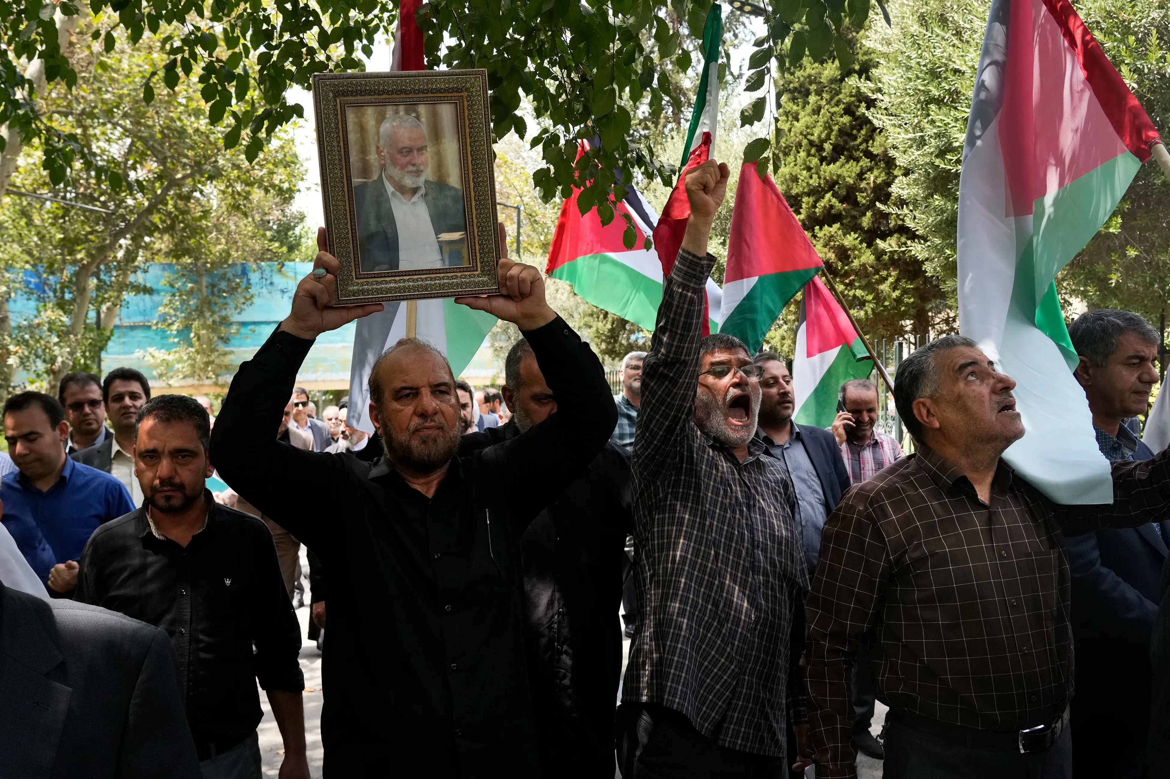
[[[755,173],[755,165],[751,166]],[[869,352],[849,317],[819,277],[805,284],[792,358],[792,394],[798,425],[830,427],[837,419],[838,391],[873,370]]]

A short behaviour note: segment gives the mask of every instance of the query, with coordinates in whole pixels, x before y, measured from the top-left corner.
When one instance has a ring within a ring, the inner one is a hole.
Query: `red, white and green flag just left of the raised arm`
[[[581,215],[578,193],[574,188],[560,207],[545,273],[572,284],[577,295],[599,309],[653,332],[662,302],[662,263],[655,249],[641,247],[654,234],[658,214],[629,185],[624,200],[615,204],[613,221],[603,226],[597,208]],[[633,249],[627,249],[621,240],[626,232],[622,214],[634,221]],[[710,278],[707,296],[713,301],[711,310],[718,311],[721,290]]]

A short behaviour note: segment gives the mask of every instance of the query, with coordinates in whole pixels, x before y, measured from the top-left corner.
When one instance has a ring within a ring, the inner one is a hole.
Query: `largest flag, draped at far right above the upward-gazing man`
[[[1158,133],[1067,0],[993,0],[959,180],[959,326],[1016,379],[1004,454],[1058,503],[1113,499],[1054,278]]]

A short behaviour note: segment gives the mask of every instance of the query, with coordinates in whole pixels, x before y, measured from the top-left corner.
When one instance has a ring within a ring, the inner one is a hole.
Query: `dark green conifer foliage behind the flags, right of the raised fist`
[[[927,332],[943,299],[908,244],[890,186],[901,174],[886,136],[867,115],[875,64],[867,47],[842,74],[805,60],[785,75],[776,184],[868,337]]]

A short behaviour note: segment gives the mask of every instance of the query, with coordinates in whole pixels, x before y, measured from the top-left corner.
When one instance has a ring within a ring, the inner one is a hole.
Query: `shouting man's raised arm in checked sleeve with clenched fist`
[[[634,462],[644,475],[673,461],[679,453],[674,442],[695,413],[698,342],[706,315],[703,290],[715,264],[715,257],[707,253],[707,240],[727,194],[729,175],[728,166],[715,160],[687,173],[690,218],[682,248],[662,287],[651,351],[642,361]]]

